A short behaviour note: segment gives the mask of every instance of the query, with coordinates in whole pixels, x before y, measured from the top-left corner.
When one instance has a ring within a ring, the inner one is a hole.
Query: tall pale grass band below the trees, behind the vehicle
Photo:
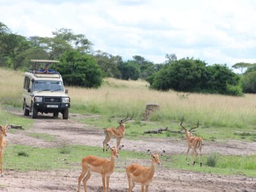
[[[0,102],[21,108],[22,72],[0,68]],[[256,124],[256,95],[244,97],[190,93],[186,97],[173,91],[150,90],[145,81],[122,81],[104,79],[99,89],[68,87],[71,112],[96,113],[109,117],[123,117],[127,112],[140,119],[145,113],[145,104],[158,103],[160,111],[150,120],[179,122],[182,116],[186,124],[204,127],[235,127],[253,129]],[[255,129],[254,129],[255,130]]]

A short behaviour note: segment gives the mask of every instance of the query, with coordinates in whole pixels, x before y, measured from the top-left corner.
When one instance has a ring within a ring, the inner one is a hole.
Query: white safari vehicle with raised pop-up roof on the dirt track
[[[48,65],[57,65],[60,61],[31,60],[32,69],[24,74],[22,91],[24,116],[36,118],[38,113],[53,113],[53,116],[62,114],[63,119],[68,119],[70,98],[64,89],[60,73],[48,70]],[[44,66],[44,69],[38,67]],[[47,68],[47,72],[45,71]]]

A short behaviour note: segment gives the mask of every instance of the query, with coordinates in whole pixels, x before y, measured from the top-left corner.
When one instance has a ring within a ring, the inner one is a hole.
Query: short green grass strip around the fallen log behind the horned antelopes
[[[125,116],[124,116],[125,118]],[[121,118],[116,118],[116,116],[100,116],[99,118],[81,118],[74,119],[83,124],[95,125],[100,129],[106,127],[118,127],[118,121]],[[196,122],[195,122],[196,124]],[[190,124],[194,126],[195,124]],[[147,137],[159,137],[159,138],[184,138],[184,134],[173,133],[168,131],[163,131],[159,134],[145,134],[144,131],[159,129],[163,127],[168,127],[172,131],[180,130],[180,121],[173,120],[172,122],[141,122],[140,119],[134,118],[133,121],[125,123],[125,137],[138,139]],[[186,127],[191,127],[186,126]],[[241,131],[239,127],[211,127],[208,125],[200,125],[195,136],[201,136],[205,141],[226,141],[226,140],[243,140],[243,141],[255,141],[256,140],[256,129],[246,128],[243,131],[255,132],[255,134],[237,134],[237,131]],[[244,138],[242,138],[244,137]]]

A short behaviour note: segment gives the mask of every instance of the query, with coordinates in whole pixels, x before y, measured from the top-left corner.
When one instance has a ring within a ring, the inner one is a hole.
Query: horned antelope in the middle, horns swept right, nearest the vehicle
[[[125,134],[125,124],[124,122],[127,122],[129,120],[131,120],[133,118],[134,113],[132,113],[131,118],[128,118],[129,113],[127,113],[126,118],[120,120],[119,122],[119,126],[116,128],[106,128],[104,129],[104,134],[105,134],[105,140],[103,141],[103,152],[107,149],[107,145],[109,143],[109,141],[112,140],[112,138],[116,138],[116,147],[119,148],[120,147],[120,143],[122,138],[124,138],[124,134]]]

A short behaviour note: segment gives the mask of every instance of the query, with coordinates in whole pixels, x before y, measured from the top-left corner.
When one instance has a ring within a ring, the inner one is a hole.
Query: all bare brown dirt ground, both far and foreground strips
[[[22,115],[19,112],[12,112]],[[71,115],[72,118],[86,118],[88,116]],[[47,132],[56,136],[54,142],[40,139],[28,139],[28,132]],[[33,128],[28,131],[17,131],[8,134],[8,143],[33,145],[38,147],[54,147],[59,143],[68,145],[91,145],[102,147],[104,134],[96,127],[79,124],[74,120],[54,119],[50,116],[42,116],[35,120]],[[125,150],[144,151],[148,148],[157,150],[165,149],[168,154],[181,154],[186,150],[185,141],[170,139],[150,140],[122,140]],[[114,143],[113,143],[114,144]],[[228,143],[205,142],[204,153],[209,154],[218,150],[221,154],[255,154],[256,143],[241,141],[228,141]],[[143,163],[143,162],[142,162]],[[149,161],[145,162],[148,164]],[[76,191],[77,170],[58,170],[51,172],[15,172],[5,171],[0,178],[0,191]],[[114,172],[111,175],[110,191],[127,191],[127,178],[125,173]],[[83,186],[81,186],[83,189]],[[102,191],[100,175],[93,175],[88,182],[89,191]],[[134,191],[140,191],[136,186]],[[244,176],[212,175],[209,173],[195,173],[182,170],[170,170],[157,168],[154,181],[149,191],[256,191],[256,179]]]

